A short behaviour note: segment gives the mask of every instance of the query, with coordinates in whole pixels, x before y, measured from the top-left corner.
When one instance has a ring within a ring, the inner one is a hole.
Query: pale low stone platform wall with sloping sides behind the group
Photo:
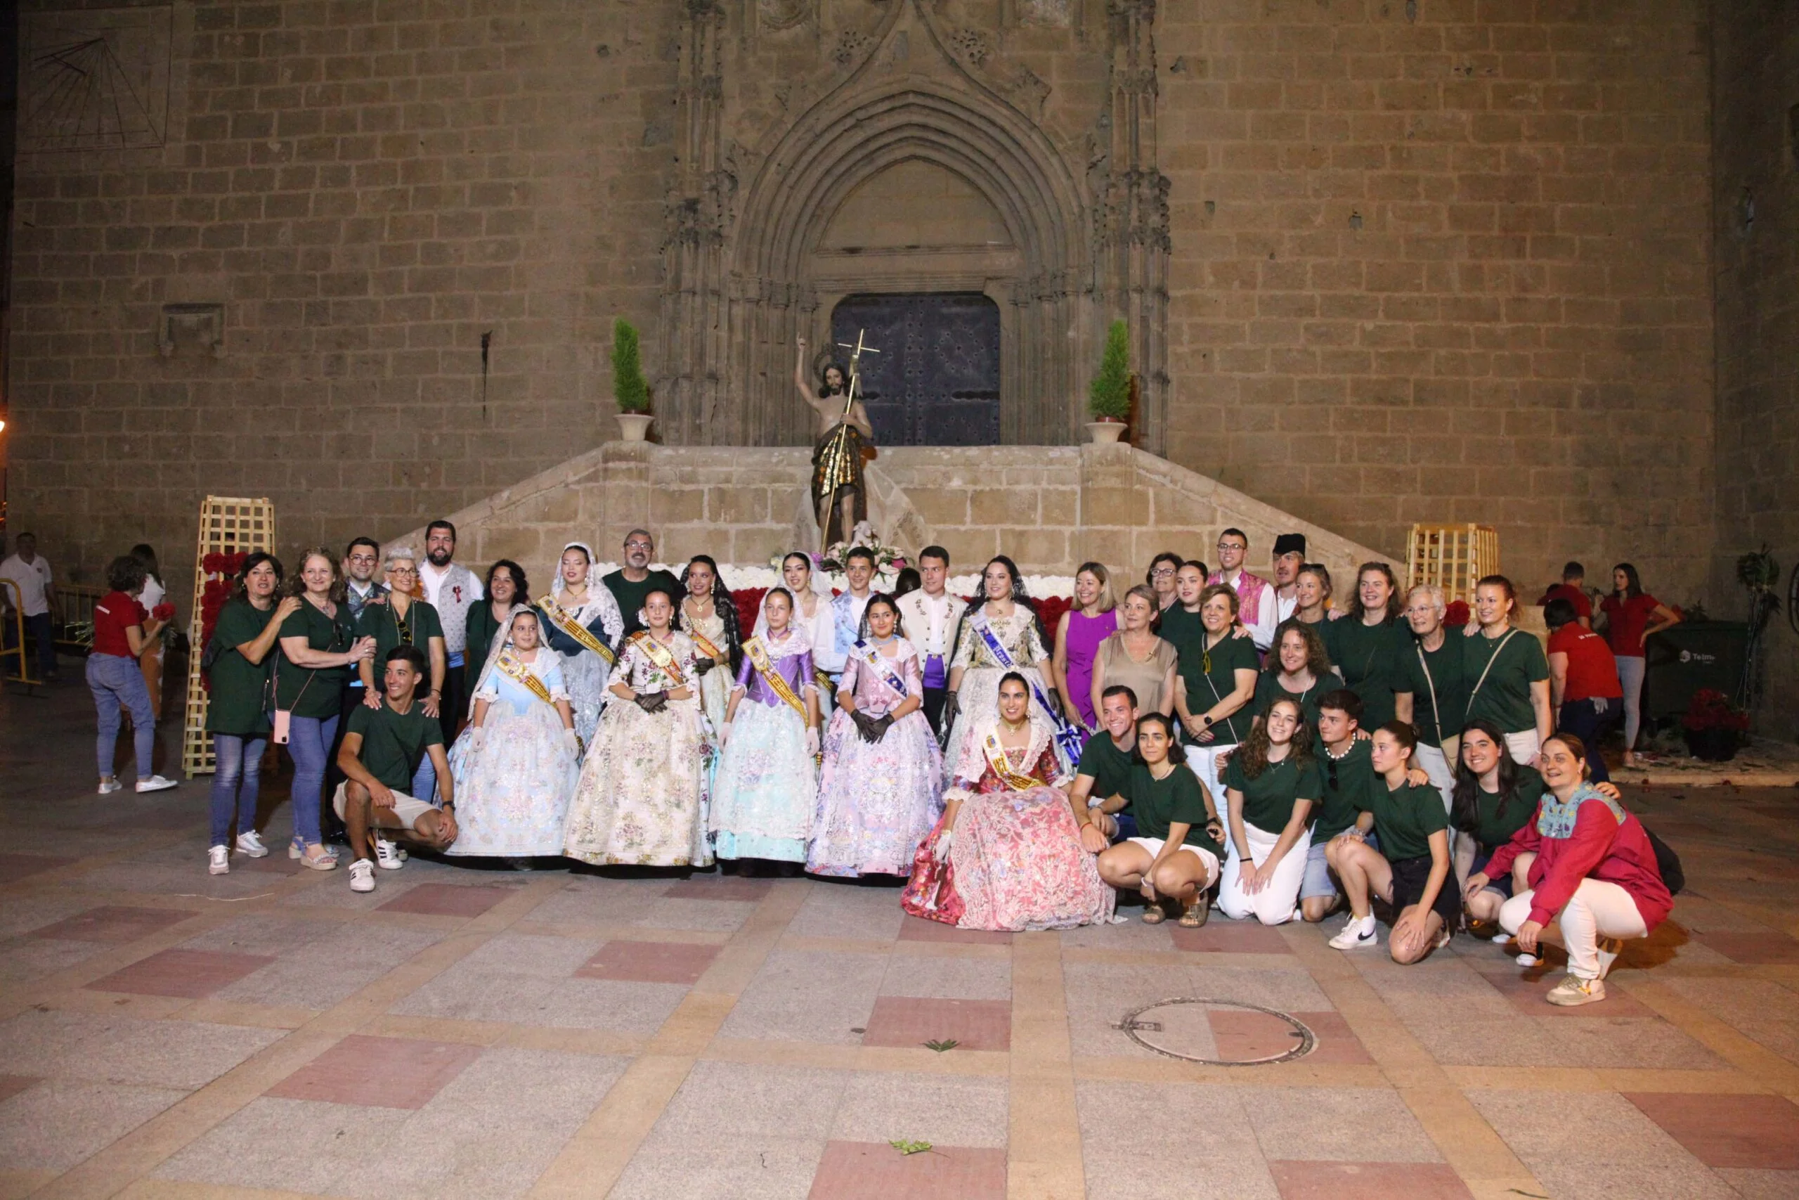
[[[817,542],[810,466],[799,450],[608,443],[453,513],[457,556],[511,558],[543,590],[568,542],[617,561],[624,534],[642,525],[657,536],[658,561],[765,563]],[[1249,563],[1263,574],[1277,533],[1304,533],[1337,579],[1383,558],[1130,446],[887,450],[869,482],[876,529],[908,554],[943,545],[953,574],[995,554],[1056,576],[1097,560],[1128,587],[1160,551],[1216,561],[1213,543],[1229,525],[1249,534]],[[423,524],[389,540],[423,543]],[[1403,561],[1394,569],[1403,576]]]

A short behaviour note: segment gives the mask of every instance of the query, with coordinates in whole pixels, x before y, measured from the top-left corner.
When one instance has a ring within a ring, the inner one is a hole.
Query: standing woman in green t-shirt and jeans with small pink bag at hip
[[[290,585],[293,588],[293,585]],[[300,554],[299,610],[281,622],[275,660],[275,739],[282,725],[293,756],[293,842],[288,858],[313,871],[336,867],[336,853],[318,833],[326,759],[336,738],[338,696],[349,669],[374,653],[372,637],[356,637],[336,558],[322,547]]]

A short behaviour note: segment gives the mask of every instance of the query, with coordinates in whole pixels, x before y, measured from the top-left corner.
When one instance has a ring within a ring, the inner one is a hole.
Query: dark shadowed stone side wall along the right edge
[[[1799,570],[1799,11],[1716,5],[1718,536],[1713,615],[1741,619],[1736,556]],[[1799,739],[1799,633],[1767,637],[1761,730]]]

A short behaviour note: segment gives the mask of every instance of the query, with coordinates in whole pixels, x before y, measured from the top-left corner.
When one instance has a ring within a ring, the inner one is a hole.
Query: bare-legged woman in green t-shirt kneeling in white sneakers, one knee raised
[[[1387,941],[1394,963],[1418,963],[1455,932],[1461,898],[1450,878],[1450,819],[1434,786],[1407,779],[1416,748],[1418,734],[1405,721],[1374,730],[1365,813],[1374,819],[1380,849],[1362,840],[1367,824],[1356,820],[1324,851],[1349,900],[1349,919],[1331,937],[1335,950],[1378,945],[1371,896],[1389,901],[1398,914]]]

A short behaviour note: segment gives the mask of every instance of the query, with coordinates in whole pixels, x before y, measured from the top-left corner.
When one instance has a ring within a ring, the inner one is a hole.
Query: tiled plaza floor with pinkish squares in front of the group
[[[1567,1013],[1466,937],[1396,968],[1216,916],[957,936],[804,878],[209,876],[207,781],[97,797],[92,745],[77,682],[0,696],[0,1198],[1799,1196],[1794,790],[1633,790],[1689,891]],[[1119,1027],[1168,999],[1317,1045],[1168,1058]]]

